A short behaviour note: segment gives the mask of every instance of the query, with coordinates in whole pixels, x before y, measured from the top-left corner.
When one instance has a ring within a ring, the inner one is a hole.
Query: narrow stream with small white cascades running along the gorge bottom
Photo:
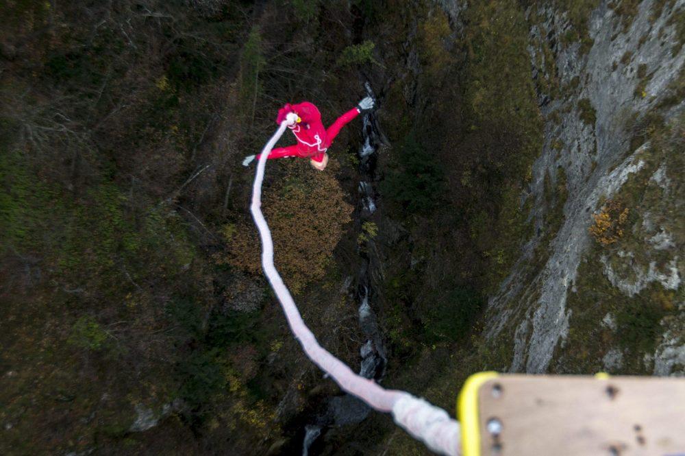
[[[366,93],[373,97],[373,91],[369,83],[364,84]],[[376,210],[375,189],[373,187],[373,172],[375,170],[375,154],[380,141],[375,128],[373,113],[364,115],[362,118],[362,128],[364,142],[360,147],[358,156],[360,159],[359,171],[362,180],[358,185],[360,192],[360,222],[364,222]],[[366,336],[366,342],[360,347],[359,374],[366,379],[380,381],[385,374],[386,350],[383,345],[382,335],[378,329],[376,315],[371,307],[370,300],[373,300],[373,289],[371,288],[371,263],[369,252],[359,249],[362,259],[360,270],[357,276],[357,297],[360,303],[358,308],[358,323],[362,333]],[[305,427],[305,436],[302,442],[302,456],[309,456],[312,444],[329,427],[340,427],[345,424],[356,424],[362,422],[371,408],[358,398],[350,394],[334,396],[327,399],[323,413],[312,418],[312,423]]]

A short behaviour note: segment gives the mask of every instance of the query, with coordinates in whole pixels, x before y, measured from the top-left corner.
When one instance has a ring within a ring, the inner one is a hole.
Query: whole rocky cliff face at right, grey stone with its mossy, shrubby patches
[[[523,197],[536,236],[486,318],[489,339],[513,337],[513,372],[685,373],[685,2],[646,0],[632,16],[610,3],[591,12],[586,49],[565,42],[563,11],[527,12],[537,16],[529,51],[545,118]],[[612,226],[614,237],[601,232]]]

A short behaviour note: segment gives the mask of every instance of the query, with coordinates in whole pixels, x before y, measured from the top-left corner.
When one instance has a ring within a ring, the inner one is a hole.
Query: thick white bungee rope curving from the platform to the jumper
[[[436,453],[449,456],[460,455],[459,423],[449,418],[447,412],[439,407],[431,405],[427,401],[416,398],[409,393],[393,389],[385,389],[371,379],[365,379],[355,374],[343,361],[340,361],[325,348],[319,345],[316,337],[302,320],[297,310],[295,301],[290,296],[290,291],[283,283],[273,264],[273,240],[269,225],[266,224],[262,214],[262,180],[266,158],[271,149],[282,136],[286,127],[294,122],[292,117],[286,118],[278,130],[266,143],[259,162],[252,187],[252,204],[250,211],[255,220],[262,239],[262,267],[264,274],[271,283],[271,288],[281,303],[286,314],[288,325],[295,338],[299,340],[306,355],[318,365],[324,372],[340,385],[340,388],[364,400],[366,404],[377,411],[390,412],[400,427],[405,429],[414,438],[423,441],[428,448]]]

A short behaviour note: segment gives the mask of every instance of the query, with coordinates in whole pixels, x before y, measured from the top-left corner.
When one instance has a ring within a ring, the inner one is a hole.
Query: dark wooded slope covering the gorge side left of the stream
[[[266,451],[298,352],[282,351],[239,163],[280,104],[314,99],[329,121],[357,101],[355,67],[327,73],[353,44],[347,4],[14,1],[0,16],[0,452]],[[344,168],[271,163],[266,213],[297,291],[337,274],[353,135],[332,151]],[[162,424],[134,433],[148,414]]]

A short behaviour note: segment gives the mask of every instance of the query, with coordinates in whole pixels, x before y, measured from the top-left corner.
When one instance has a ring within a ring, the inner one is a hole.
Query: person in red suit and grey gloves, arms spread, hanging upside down
[[[303,101],[299,104],[286,104],[278,110],[276,123],[281,124],[290,113],[297,116],[295,123],[288,125],[292,134],[297,139],[297,144],[288,147],[277,147],[273,149],[268,158],[301,157],[309,158],[312,167],[323,171],[328,165],[328,154],[326,153],[333,140],[338,136],[340,130],[351,122],[355,117],[373,110],[375,103],[373,98],[365,97],[357,106],[338,117],[329,128],[324,128],[321,122],[321,112],[314,104]],[[260,158],[260,155],[249,155],[242,160],[243,166],[249,166],[252,161]]]

